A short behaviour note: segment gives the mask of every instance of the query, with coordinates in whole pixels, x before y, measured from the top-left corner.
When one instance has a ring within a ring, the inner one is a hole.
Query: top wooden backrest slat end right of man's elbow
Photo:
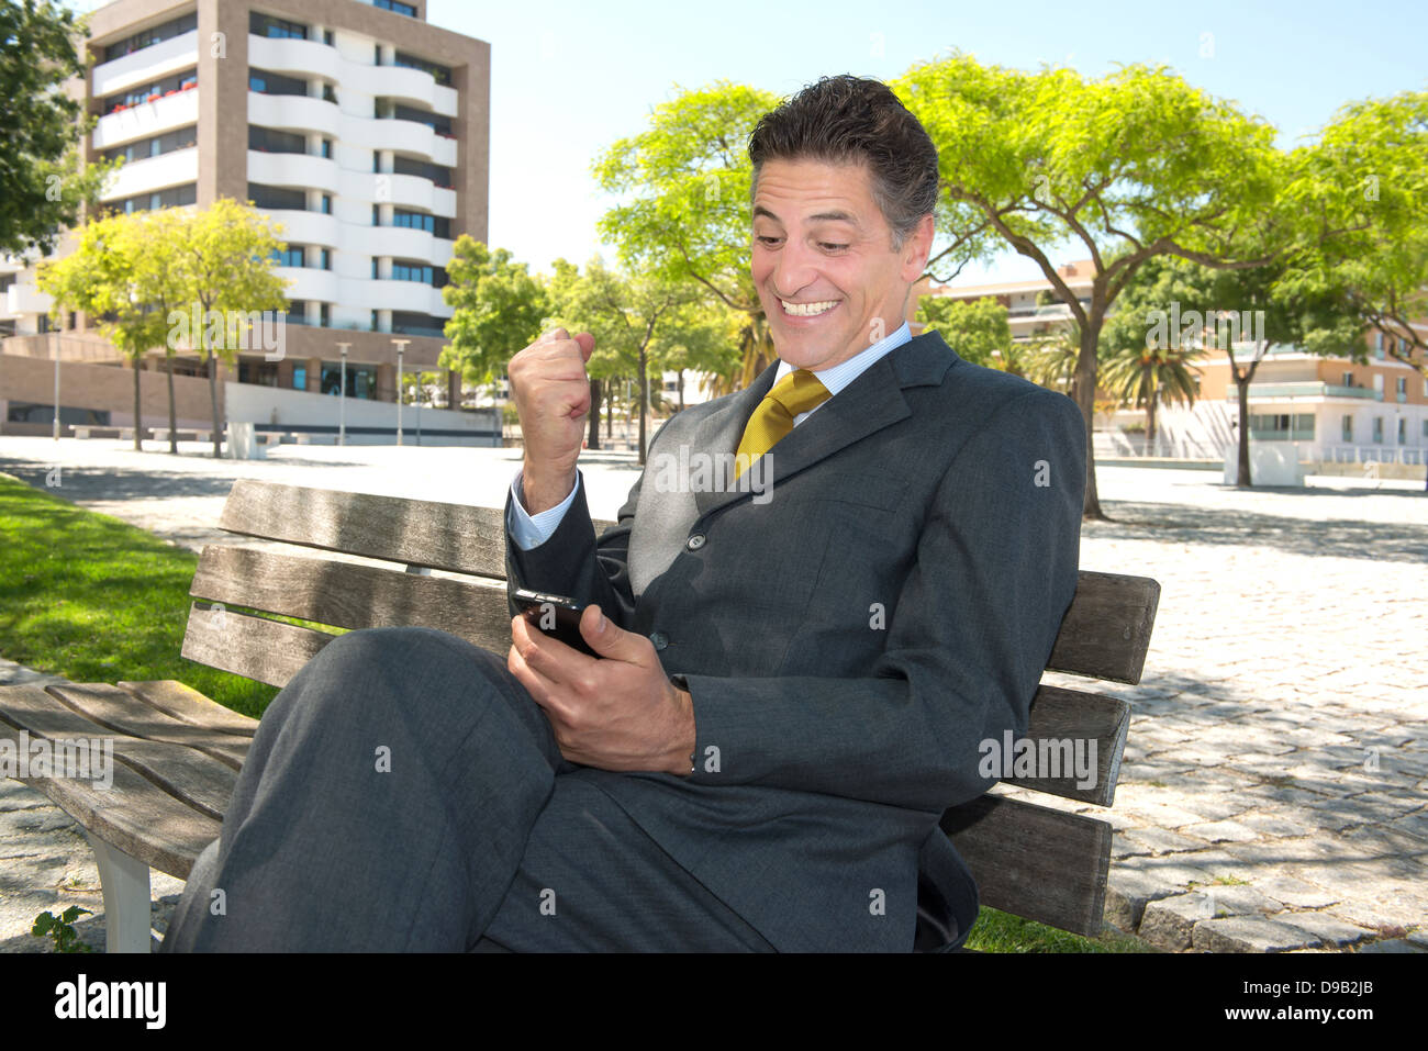
[[[1160,584],[1150,577],[1081,570],[1047,667],[1072,675],[1141,681]]]

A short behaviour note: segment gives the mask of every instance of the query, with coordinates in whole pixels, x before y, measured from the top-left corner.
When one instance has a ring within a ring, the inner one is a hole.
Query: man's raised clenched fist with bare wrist
[[[554,328],[518,351],[506,367],[521,423],[526,458],[521,496],[527,514],[560,504],[575,487],[575,461],[590,413],[585,361],[595,337]]]

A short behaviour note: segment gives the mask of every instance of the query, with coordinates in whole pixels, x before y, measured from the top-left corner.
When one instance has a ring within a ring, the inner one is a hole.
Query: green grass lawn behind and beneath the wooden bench
[[[76,683],[177,678],[258,717],[277,694],[178,655],[198,557],[107,514],[0,474],[0,657]],[[301,621],[296,621],[301,623]],[[314,625],[316,627],[316,625]],[[1081,938],[982,908],[982,952],[1144,952],[1120,935]]]

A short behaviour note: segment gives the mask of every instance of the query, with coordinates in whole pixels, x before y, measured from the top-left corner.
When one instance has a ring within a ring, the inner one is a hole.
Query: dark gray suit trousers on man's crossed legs
[[[344,634],[264,713],[161,951],[773,951],[581,770],[504,660]]]

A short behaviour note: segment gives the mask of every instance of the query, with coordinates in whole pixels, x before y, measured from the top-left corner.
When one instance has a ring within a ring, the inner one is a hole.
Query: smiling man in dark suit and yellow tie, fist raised
[[[820,80],[750,156],[780,361],[664,426],[598,540],[593,340],[510,363],[510,583],[573,597],[598,658],[520,617],[506,667],[424,628],[331,643],[264,715],[166,948],[965,940],[937,821],[990,787],[978,744],[1025,731],[1075,590],[1081,418],[910,338],[937,153],[885,86]]]

